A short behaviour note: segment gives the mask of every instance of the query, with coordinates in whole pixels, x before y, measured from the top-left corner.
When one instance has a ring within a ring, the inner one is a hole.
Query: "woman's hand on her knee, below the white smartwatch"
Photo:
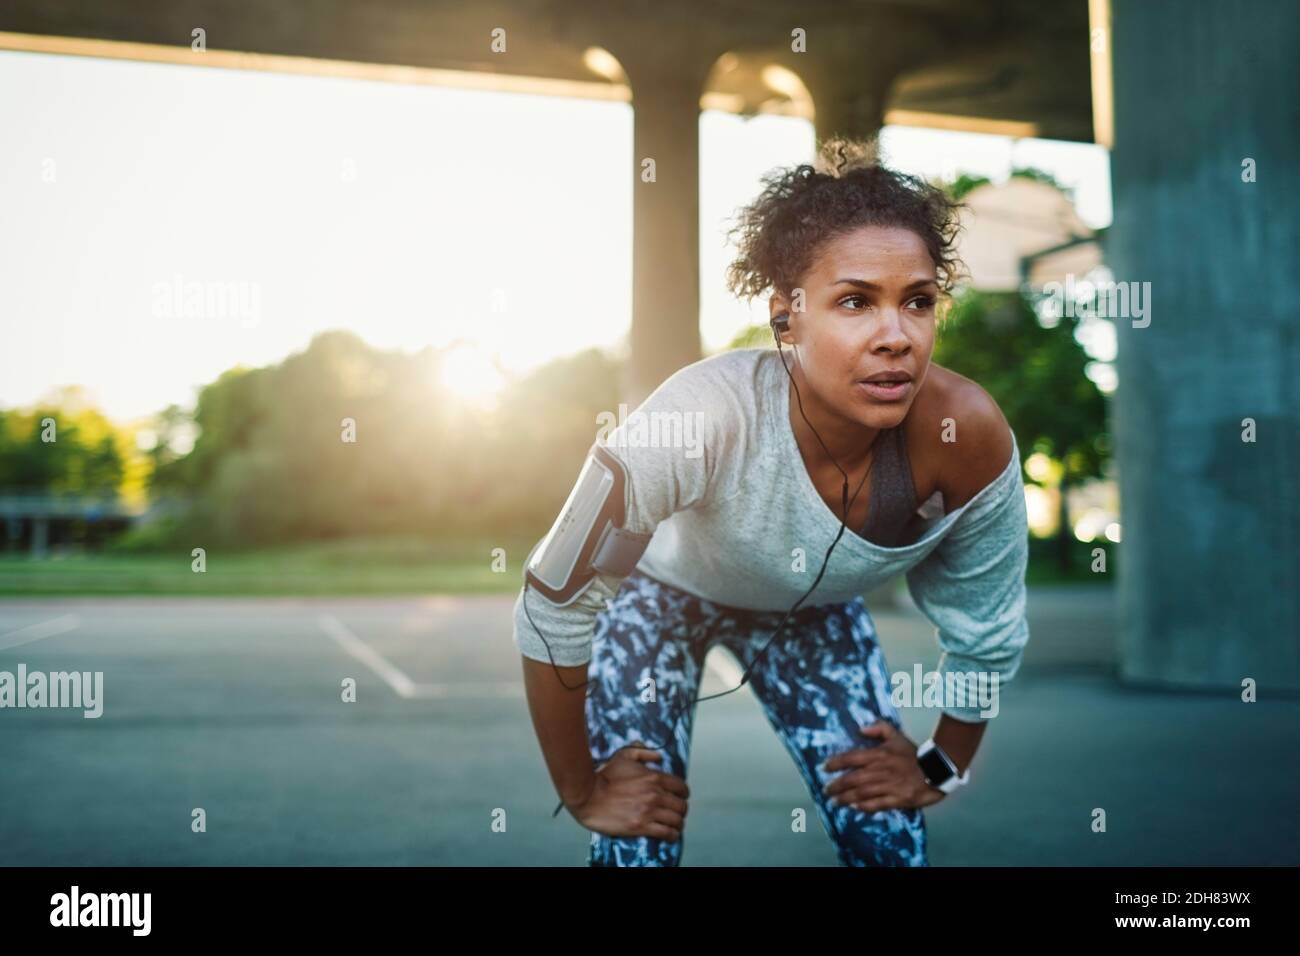
[[[881,743],[837,753],[822,765],[826,770],[848,770],[823,788],[832,804],[874,813],[930,806],[946,796],[926,783],[916,745],[892,723],[876,721],[862,734]]]

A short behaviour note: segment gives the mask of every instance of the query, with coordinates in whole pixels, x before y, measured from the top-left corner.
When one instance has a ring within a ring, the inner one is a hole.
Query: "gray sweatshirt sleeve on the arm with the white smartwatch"
[[[907,591],[935,624],[942,650],[942,711],[958,721],[982,723],[997,715],[1001,691],[1019,670],[1030,639],[1028,515],[1020,468],[1013,441],[1006,470],[967,502],[952,531],[906,576]],[[949,691],[958,687],[967,689],[965,700]]]

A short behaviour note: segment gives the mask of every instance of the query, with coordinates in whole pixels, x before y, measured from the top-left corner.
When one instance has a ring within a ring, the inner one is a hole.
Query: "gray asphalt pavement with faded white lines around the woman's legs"
[[[0,865],[584,865],[588,832],[551,817],[512,601],[0,601],[0,671],[103,674],[98,718],[0,709]],[[874,617],[892,671],[935,666],[915,609]],[[971,784],[926,812],[933,865],[1300,862],[1300,701],[1126,687],[1115,620],[1110,591],[1031,591]],[[733,685],[725,652],[708,663],[702,693]],[[748,688],[699,705],[689,780],[682,865],[836,864]]]

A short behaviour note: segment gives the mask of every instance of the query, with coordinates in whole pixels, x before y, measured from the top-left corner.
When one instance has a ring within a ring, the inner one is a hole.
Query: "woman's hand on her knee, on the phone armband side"
[[[676,843],[686,817],[690,788],[680,777],[646,763],[663,760],[658,750],[625,747],[595,771],[586,799],[571,808],[588,830],[607,836],[655,836]]]

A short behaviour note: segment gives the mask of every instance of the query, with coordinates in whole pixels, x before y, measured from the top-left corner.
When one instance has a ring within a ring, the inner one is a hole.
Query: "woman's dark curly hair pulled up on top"
[[[957,258],[962,203],[920,177],[879,160],[872,139],[827,139],[815,164],[767,173],[764,189],[740,209],[728,238],[738,255],[727,267],[727,287],[753,299],[768,289],[790,297],[822,246],[866,225],[902,226],[922,238],[939,286],[950,293],[963,272]]]

